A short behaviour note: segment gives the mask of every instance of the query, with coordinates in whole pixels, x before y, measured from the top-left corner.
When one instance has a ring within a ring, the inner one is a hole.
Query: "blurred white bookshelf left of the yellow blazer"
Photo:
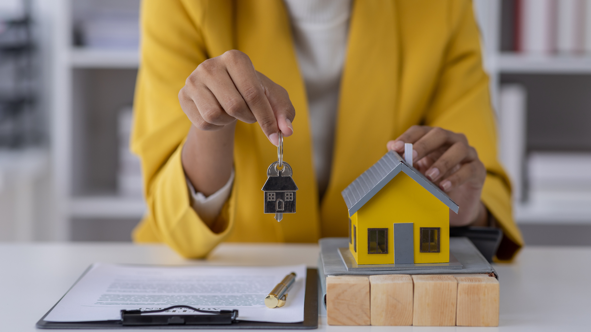
[[[92,237],[85,229],[103,224],[108,240],[109,227],[131,229],[146,209],[139,160],[128,148],[140,1],[52,2],[52,154],[60,239],[92,240],[76,234]]]

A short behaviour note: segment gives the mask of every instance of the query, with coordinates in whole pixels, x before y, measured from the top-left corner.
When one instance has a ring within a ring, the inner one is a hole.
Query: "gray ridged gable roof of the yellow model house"
[[[457,213],[459,207],[446,193],[429,181],[421,172],[408,165],[397,152],[389,151],[340,193],[345,198],[347,209],[349,209],[349,216],[353,216],[357,210],[361,209],[365,203],[374,197],[378,191],[382,190],[400,171],[404,172],[414,181],[417,181],[429,193],[439,198],[443,204],[446,204],[447,207]]]

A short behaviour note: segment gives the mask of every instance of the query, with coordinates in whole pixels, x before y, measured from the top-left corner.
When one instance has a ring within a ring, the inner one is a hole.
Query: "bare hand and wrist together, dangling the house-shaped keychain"
[[[241,51],[203,61],[187,77],[178,100],[193,123],[183,147],[183,169],[205,196],[222,188],[232,174],[237,119],[258,122],[276,146],[279,131],[293,134],[296,110],[287,91],[256,71]]]

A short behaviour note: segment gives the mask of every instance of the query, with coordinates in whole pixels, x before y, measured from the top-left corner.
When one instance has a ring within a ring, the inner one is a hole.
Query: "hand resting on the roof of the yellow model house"
[[[386,146],[401,154],[405,143],[413,144],[414,167],[460,207],[457,214],[450,213],[450,226],[486,226],[488,214],[480,202],[486,168],[466,136],[415,125]]]

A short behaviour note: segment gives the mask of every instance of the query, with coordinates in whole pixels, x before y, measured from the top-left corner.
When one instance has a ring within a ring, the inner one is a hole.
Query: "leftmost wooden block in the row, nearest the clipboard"
[[[326,318],[329,325],[369,325],[369,278],[326,278]]]

